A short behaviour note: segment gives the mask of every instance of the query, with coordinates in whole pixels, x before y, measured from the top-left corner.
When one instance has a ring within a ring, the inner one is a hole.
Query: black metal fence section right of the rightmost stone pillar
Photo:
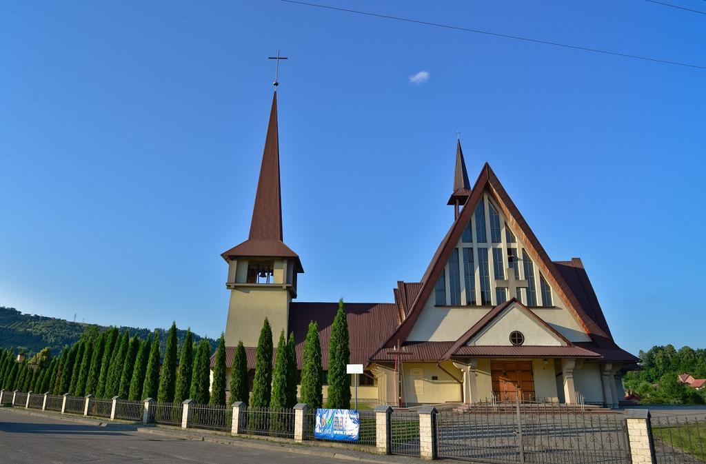
[[[658,464],[706,463],[705,417],[652,417],[651,422]]]

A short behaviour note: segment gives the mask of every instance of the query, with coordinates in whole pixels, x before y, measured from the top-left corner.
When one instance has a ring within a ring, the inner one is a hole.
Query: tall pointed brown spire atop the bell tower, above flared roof
[[[280,141],[277,135],[277,91],[272,97],[270,124],[265,138],[258,191],[255,195],[250,240],[282,240],[282,195],[280,193]]]

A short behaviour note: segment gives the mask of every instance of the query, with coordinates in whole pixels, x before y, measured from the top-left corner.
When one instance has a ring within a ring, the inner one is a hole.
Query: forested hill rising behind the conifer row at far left
[[[87,324],[80,322],[66,321],[54,317],[37,316],[36,314],[22,314],[15,308],[0,306],[0,348],[14,347],[15,352],[24,350],[28,355],[49,347],[52,355],[59,355],[65,345],[72,345],[80,335],[90,327],[97,327],[101,331],[106,326]],[[137,327],[119,327],[120,333],[127,330],[130,336],[135,334],[145,340],[153,329]],[[169,327],[160,329],[160,340],[162,340],[162,350],[164,350]],[[186,336],[186,330],[177,330],[179,345]],[[193,335],[193,341],[198,342],[202,337]],[[207,338],[211,345],[211,351],[217,347],[216,340]]]

